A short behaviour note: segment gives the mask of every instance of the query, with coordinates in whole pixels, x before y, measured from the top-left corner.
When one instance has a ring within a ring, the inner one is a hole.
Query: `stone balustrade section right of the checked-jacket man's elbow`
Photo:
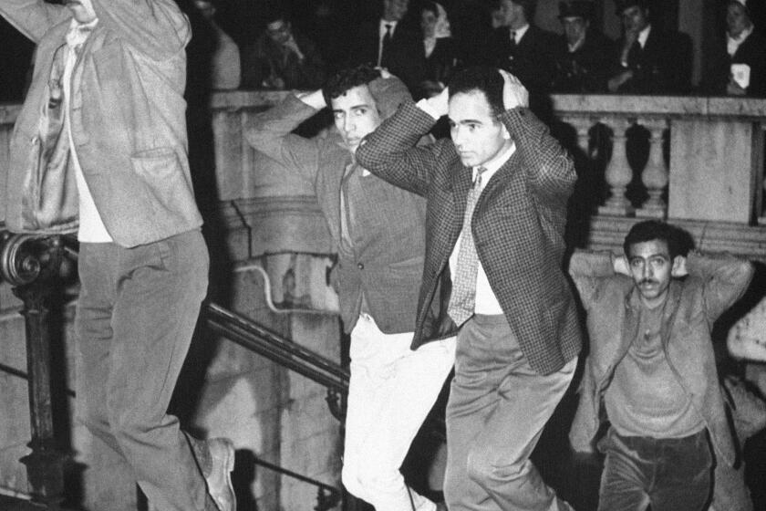
[[[598,214],[766,224],[766,100],[556,95],[553,107],[557,118],[574,128],[588,156],[593,127],[602,125],[609,133],[600,149],[611,148],[604,172],[610,194]],[[631,135],[637,126],[646,130],[643,168],[630,164],[630,156],[642,160],[640,148],[630,144],[631,136],[640,138],[635,131]],[[640,204],[626,197],[636,172],[647,193]]]

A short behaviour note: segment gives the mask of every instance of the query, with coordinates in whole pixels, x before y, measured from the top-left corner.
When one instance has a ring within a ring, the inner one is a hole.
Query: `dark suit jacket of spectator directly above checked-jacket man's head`
[[[519,78],[531,93],[544,93],[554,80],[556,36],[530,25],[515,48],[507,26],[495,28],[484,52],[485,64]]]

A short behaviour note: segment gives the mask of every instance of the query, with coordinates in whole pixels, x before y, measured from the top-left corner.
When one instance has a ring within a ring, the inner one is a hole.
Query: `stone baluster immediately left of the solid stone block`
[[[668,186],[668,168],[662,154],[662,134],[668,127],[665,119],[642,120],[642,125],[649,130],[649,158],[647,166],[641,172],[641,182],[647,187],[649,198],[636,211],[636,216],[664,219],[668,216],[668,204],[662,199],[662,193]]]

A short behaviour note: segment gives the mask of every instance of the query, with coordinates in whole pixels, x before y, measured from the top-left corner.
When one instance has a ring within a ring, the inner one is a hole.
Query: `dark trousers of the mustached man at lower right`
[[[620,436],[610,429],[599,511],[699,511],[709,502],[712,454],[707,430],[684,438]]]

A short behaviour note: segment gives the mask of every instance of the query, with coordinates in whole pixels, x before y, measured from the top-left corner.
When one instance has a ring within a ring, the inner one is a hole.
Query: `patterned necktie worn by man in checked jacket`
[[[471,217],[481,194],[481,174],[486,170],[484,167],[479,167],[476,170],[476,179],[466,197],[460,239],[461,248],[458,252],[458,262],[454,268],[454,276],[452,276],[452,295],[447,313],[459,327],[468,318],[471,318],[476,306],[476,276],[479,273],[479,256],[476,254],[476,245],[473,243]]]

